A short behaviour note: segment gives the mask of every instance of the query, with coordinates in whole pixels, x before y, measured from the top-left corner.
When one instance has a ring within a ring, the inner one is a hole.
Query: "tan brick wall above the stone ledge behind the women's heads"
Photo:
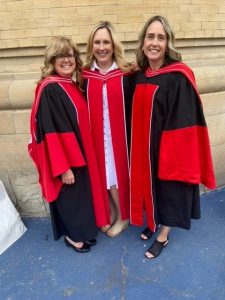
[[[100,19],[111,21],[121,40],[133,41],[153,14],[168,17],[177,38],[225,37],[224,0],[0,1],[0,48],[44,46],[59,34],[83,43]]]

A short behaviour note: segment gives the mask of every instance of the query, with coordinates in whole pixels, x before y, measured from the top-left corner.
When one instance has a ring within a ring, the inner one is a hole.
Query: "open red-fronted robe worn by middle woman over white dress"
[[[88,101],[91,133],[97,155],[101,181],[104,187],[105,206],[110,224],[110,209],[108,201],[104,136],[103,136],[103,84],[106,84],[112,145],[118,182],[121,217],[129,218],[129,137],[131,119],[132,91],[129,74],[116,69],[103,75],[99,71],[84,69],[85,91]]]

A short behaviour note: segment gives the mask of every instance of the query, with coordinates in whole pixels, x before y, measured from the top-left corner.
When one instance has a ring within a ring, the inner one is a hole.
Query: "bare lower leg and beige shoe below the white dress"
[[[110,196],[115,207],[116,219],[113,226],[107,231],[107,235],[109,237],[115,237],[128,227],[129,220],[122,220],[121,218],[119,193],[116,186],[110,187]]]

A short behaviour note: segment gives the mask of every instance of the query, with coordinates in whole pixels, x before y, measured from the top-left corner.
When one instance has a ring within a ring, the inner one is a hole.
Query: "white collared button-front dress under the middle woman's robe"
[[[114,62],[112,66],[107,70],[109,71],[117,69],[117,64]],[[99,70],[100,68],[97,63],[94,61],[91,70]],[[109,119],[109,109],[108,109],[108,97],[106,91],[106,85],[103,84],[102,89],[102,98],[103,98],[103,134],[104,134],[104,151],[105,151],[105,170],[106,170],[106,182],[107,189],[111,186],[118,187],[117,183],[117,175],[116,175],[116,167],[115,167],[115,159],[113,153],[112,146],[112,136],[111,136],[111,127],[110,127],[110,119]]]

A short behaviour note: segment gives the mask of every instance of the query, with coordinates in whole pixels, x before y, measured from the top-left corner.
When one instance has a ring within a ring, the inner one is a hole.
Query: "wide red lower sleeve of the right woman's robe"
[[[204,184],[215,188],[207,127],[192,126],[162,133],[159,173],[163,180]]]

